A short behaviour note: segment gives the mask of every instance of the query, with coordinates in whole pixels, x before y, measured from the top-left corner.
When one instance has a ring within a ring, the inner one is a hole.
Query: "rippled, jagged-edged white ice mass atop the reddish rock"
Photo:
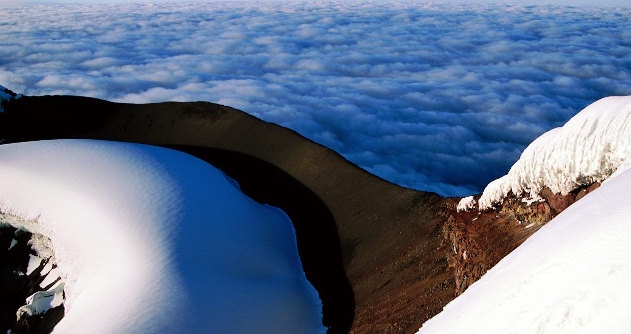
[[[511,191],[531,200],[544,187],[565,195],[602,182],[630,155],[631,96],[603,98],[526,147],[508,175],[485,188],[479,207],[493,207]]]

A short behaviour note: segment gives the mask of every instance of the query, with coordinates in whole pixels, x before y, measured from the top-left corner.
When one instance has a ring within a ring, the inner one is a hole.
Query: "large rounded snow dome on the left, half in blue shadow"
[[[6,144],[0,211],[52,241],[66,294],[56,333],[325,330],[286,215],[187,154]]]

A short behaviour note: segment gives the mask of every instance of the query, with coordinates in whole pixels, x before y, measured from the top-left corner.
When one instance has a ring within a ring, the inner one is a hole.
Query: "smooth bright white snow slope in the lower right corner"
[[[631,170],[512,251],[419,333],[630,333]]]

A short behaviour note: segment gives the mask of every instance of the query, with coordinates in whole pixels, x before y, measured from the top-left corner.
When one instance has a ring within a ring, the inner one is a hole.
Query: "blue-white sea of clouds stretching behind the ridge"
[[[26,95],[230,105],[399,185],[469,195],[589,103],[631,95],[631,10],[3,6],[0,84]]]

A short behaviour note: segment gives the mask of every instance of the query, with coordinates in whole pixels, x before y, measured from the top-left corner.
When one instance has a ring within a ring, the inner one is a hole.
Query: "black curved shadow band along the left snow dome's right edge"
[[[298,180],[262,159],[211,147],[165,145],[220,168],[239,183],[241,191],[261,204],[285,211],[296,229],[298,254],[309,282],[322,300],[322,322],[329,332],[348,332],[355,300],[339,247],[333,214]]]

